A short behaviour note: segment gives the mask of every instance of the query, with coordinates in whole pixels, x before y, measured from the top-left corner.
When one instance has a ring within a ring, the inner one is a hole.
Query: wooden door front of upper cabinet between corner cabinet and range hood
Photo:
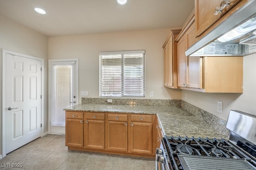
[[[202,59],[185,55],[185,51],[196,42],[194,16],[175,41],[178,43],[178,87],[202,88]]]

